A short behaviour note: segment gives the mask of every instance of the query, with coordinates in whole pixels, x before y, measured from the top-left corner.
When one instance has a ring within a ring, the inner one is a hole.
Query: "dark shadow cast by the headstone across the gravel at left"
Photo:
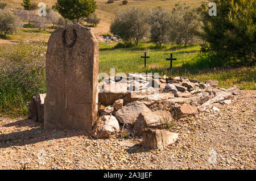
[[[0,148],[9,148],[10,146],[23,146],[36,144],[47,140],[55,140],[59,138],[67,138],[74,136],[89,136],[85,131],[77,130],[46,130],[43,129],[42,123],[34,123],[30,119],[9,123],[2,127],[31,127],[26,131],[19,131],[7,134],[0,134]]]

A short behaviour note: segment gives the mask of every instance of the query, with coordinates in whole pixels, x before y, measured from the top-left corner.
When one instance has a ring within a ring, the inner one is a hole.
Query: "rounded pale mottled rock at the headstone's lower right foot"
[[[109,138],[110,135],[118,133],[119,129],[119,123],[114,116],[101,116],[95,123],[92,137]]]

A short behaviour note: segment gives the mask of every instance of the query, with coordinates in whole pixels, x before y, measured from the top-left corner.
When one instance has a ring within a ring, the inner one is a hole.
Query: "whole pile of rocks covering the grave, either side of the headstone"
[[[199,111],[217,110],[218,104],[230,104],[233,95],[240,94],[236,86],[222,89],[217,85],[218,81],[202,83],[183,77],[139,74],[104,79],[99,83],[99,119],[92,136],[142,136],[145,147],[162,149],[178,138],[177,133],[167,131],[174,120]],[[42,121],[44,97],[35,96],[30,103],[29,117],[35,121]]]

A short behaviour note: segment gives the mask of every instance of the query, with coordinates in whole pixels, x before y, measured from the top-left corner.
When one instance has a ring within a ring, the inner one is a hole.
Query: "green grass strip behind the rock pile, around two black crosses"
[[[183,76],[196,78],[199,81],[216,79],[219,86],[228,88],[238,85],[243,90],[256,90],[256,68],[223,68],[219,67],[217,60],[207,60],[199,57],[200,46],[162,46],[156,48],[152,43],[140,43],[138,47],[125,49],[112,49],[114,43],[100,43],[100,72],[109,73],[110,68],[115,68],[115,73],[159,73],[167,76]],[[144,60],[141,56],[144,52],[150,56],[147,59],[147,68],[144,68]],[[174,67],[179,69],[170,70],[170,61],[166,58],[173,54],[176,61]]]

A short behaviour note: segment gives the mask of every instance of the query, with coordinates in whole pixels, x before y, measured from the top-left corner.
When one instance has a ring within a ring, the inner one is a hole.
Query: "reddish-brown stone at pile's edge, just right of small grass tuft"
[[[189,115],[193,115],[197,113],[197,108],[195,106],[191,106],[189,104],[182,104],[179,107],[175,107],[172,111],[174,117],[180,119],[181,117],[187,117]]]

